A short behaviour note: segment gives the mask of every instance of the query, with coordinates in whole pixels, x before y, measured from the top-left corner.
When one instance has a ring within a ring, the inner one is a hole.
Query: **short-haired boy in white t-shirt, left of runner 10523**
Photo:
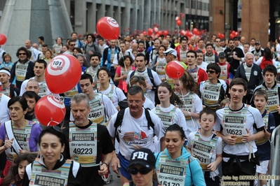
[[[201,129],[191,132],[187,148],[199,159],[204,171],[206,185],[220,184],[218,165],[222,162],[222,138],[213,133],[217,115],[211,108],[204,108],[199,113]],[[201,148],[206,147],[207,148]]]

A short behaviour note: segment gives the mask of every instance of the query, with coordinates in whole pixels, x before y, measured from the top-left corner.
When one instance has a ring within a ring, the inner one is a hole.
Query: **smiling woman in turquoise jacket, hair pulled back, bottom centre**
[[[172,124],[166,129],[166,149],[154,155],[156,157],[155,171],[160,184],[206,185],[199,161],[192,157],[183,146],[185,139],[185,132],[178,124]]]

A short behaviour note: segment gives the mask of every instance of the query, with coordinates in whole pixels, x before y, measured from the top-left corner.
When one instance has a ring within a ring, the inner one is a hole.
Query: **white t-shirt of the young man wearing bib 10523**
[[[217,114],[217,121],[213,129],[215,131],[220,131],[220,127],[222,126],[222,120],[224,115],[225,108],[221,108],[216,111]],[[262,115],[260,115],[260,111],[257,108],[253,108],[252,106],[248,107],[247,113],[246,113],[246,124],[245,127],[250,131],[251,134],[254,134],[254,127],[253,124],[256,124],[257,128],[263,127],[265,124],[262,121]],[[250,141],[249,143],[241,143],[236,145],[227,145],[225,143],[225,146],[223,148],[223,151],[226,152],[229,155],[249,155],[249,145],[252,146],[253,152],[257,151],[257,146],[255,145],[255,141]],[[222,158],[225,162],[229,160],[227,157]]]

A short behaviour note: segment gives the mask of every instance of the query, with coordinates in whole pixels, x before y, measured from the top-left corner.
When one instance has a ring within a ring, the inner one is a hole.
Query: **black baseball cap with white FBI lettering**
[[[134,164],[140,164],[149,169],[154,168],[156,166],[154,153],[148,148],[134,150],[131,154],[131,161],[129,162],[128,167]]]

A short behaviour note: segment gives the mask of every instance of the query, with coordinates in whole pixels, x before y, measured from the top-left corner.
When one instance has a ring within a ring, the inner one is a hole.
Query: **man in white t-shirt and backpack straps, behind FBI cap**
[[[115,138],[119,139],[121,185],[132,179],[128,172],[128,164],[133,150],[149,148],[153,152],[154,134],[160,140],[161,150],[164,150],[164,125],[155,113],[143,108],[145,96],[142,88],[136,85],[129,87],[127,101],[128,108],[124,110],[123,120],[119,127],[114,126],[118,113],[112,116],[107,127],[112,141],[115,141]],[[153,125],[148,123],[147,112]],[[112,166],[116,169],[116,162],[112,162]]]

